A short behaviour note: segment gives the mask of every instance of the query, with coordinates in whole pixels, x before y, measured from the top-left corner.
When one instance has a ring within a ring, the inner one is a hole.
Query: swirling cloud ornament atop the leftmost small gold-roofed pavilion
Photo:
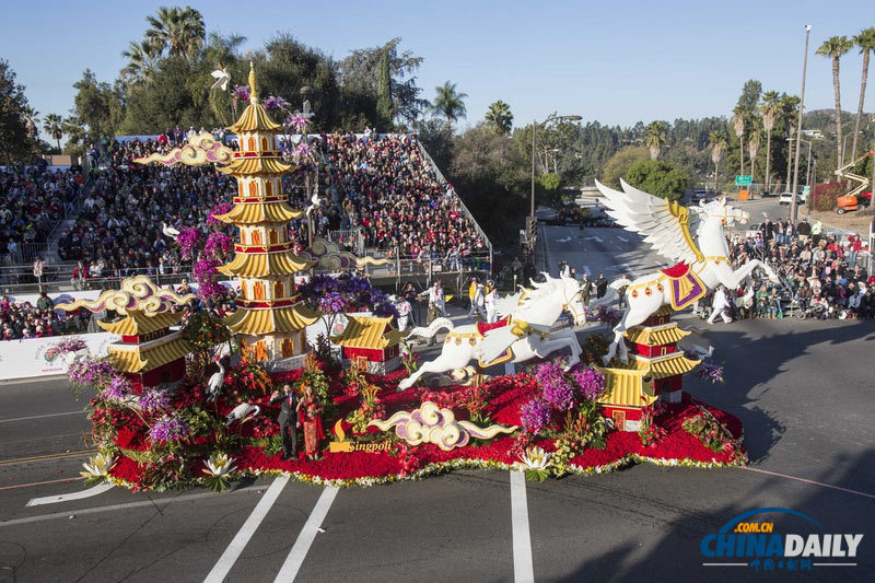
[[[103,312],[113,310],[121,315],[127,315],[128,310],[142,312],[147,316],[154,316],[162,312],[170,312],[173,306],[187,304],[197,298],[194,293],[179,295],[173,290],[155,287],[147,276],[137,276],[121,281],[121,289],[106,290],[96,300],[77,300],[69,304],[58,304],[55,310],[72,312],[84,307],[89,312]]]

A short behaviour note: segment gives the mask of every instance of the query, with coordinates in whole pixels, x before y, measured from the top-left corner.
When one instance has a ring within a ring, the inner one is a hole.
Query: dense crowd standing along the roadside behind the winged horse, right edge
[[[734,269],[761,259],[781,279],[772,283],[757,273],[735,290],[738,317],[781,317],[790,310],[820,318],[875,317],[875,276],[866,272],[859,234],[840,241],[824,234],[819,222],[767,219],[756,233],[730,243]]]

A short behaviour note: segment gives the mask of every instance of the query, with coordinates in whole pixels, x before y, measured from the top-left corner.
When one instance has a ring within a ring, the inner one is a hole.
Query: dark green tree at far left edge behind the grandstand
[[[0,59],[0,162],[4,165],[30,162],[36,141],[27,130],[27,97],[24,85],[15,82],[9,61]]]

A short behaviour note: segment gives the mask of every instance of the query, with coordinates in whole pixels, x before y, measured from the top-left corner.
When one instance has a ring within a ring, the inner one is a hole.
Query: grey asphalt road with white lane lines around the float
[[[602,243],[552,248],[594,272],[617,272],[611,253],[635,269],[658,265],[631,240],[620,246],[617,237],[626,235],[615,233]],[[563,236],[558,230],[548,238]],[[112,489],[26,506],[37,497],[81,491],[81,482],[65,480],[78,476],[82,459],[9,458],[74,451],[84,419],[9,421],[78,405],[58,382],[0,387],[0,581],[203,581],[210,573],[270,581],[283,569],[299,569],[301,581],[510,581],[528,569],[538,581],[737,581],[754,573],[703,567],[699,544],[733,516],[761,506],[805,513],[828,533],[865,534],[856,568],[815,568],[803,579],[871,581],[875,327],[754,320],[716,325],[698,340],[716,347],[727,382],[692,378],[686,386],[743,420],[750,468],[637,466],[528,482],[524,492],[506,471],[464,471],[337,492],[273,479],[223,494]],[[44,434],[54,436],[40,441]],[[514,500],[523,500],[527,521],[514,518]],[[525,535],[528,547],[518,544]],[[234,540],[246,544],[229,555]]]

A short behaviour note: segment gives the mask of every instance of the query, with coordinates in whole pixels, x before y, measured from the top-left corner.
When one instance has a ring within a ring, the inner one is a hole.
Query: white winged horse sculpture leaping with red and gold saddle
[[[626,300],[628,307],[620,323],[614,327],[614,341],[608,353],[603,357],[605,364],[614,358],[617,347],[620,360],[628,361],[622,335],[632,326],[644,322],[664,305],[682,310],[702,298],[709,289],[723,284],[736,289],[738,283],[749,278],[750,272],[761,268],[773,282],[778,276],[769,265],[751,259],[737,270],[733,270],[723,228],[738,221],[746,223],[750,215],[726,205],[726,198],[698,207],[686,208],[677,202],[657,198],[626,182],[620,180],[623,191],[614,190],[596,180],[596,186],[605,196],[607,213],[627,230],[640,233],[663,257],[678,261],[669,269],[651,273],[634,281],[611,283],[612,292],[590,307],[605,304],[617,298],[617,288],[628,284]]]

